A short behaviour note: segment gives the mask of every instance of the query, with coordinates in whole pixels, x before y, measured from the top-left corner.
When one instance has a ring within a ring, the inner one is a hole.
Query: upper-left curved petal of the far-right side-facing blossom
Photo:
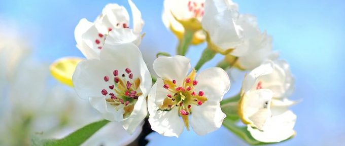
[[[251,89],[255,89],[255,83],[257,78],[263,75],[271,74],[273,72],[273,62],[266,61],[262,63],[259,67],[253,69],[244,79],[242,83],[243,92],[247,92]]]

